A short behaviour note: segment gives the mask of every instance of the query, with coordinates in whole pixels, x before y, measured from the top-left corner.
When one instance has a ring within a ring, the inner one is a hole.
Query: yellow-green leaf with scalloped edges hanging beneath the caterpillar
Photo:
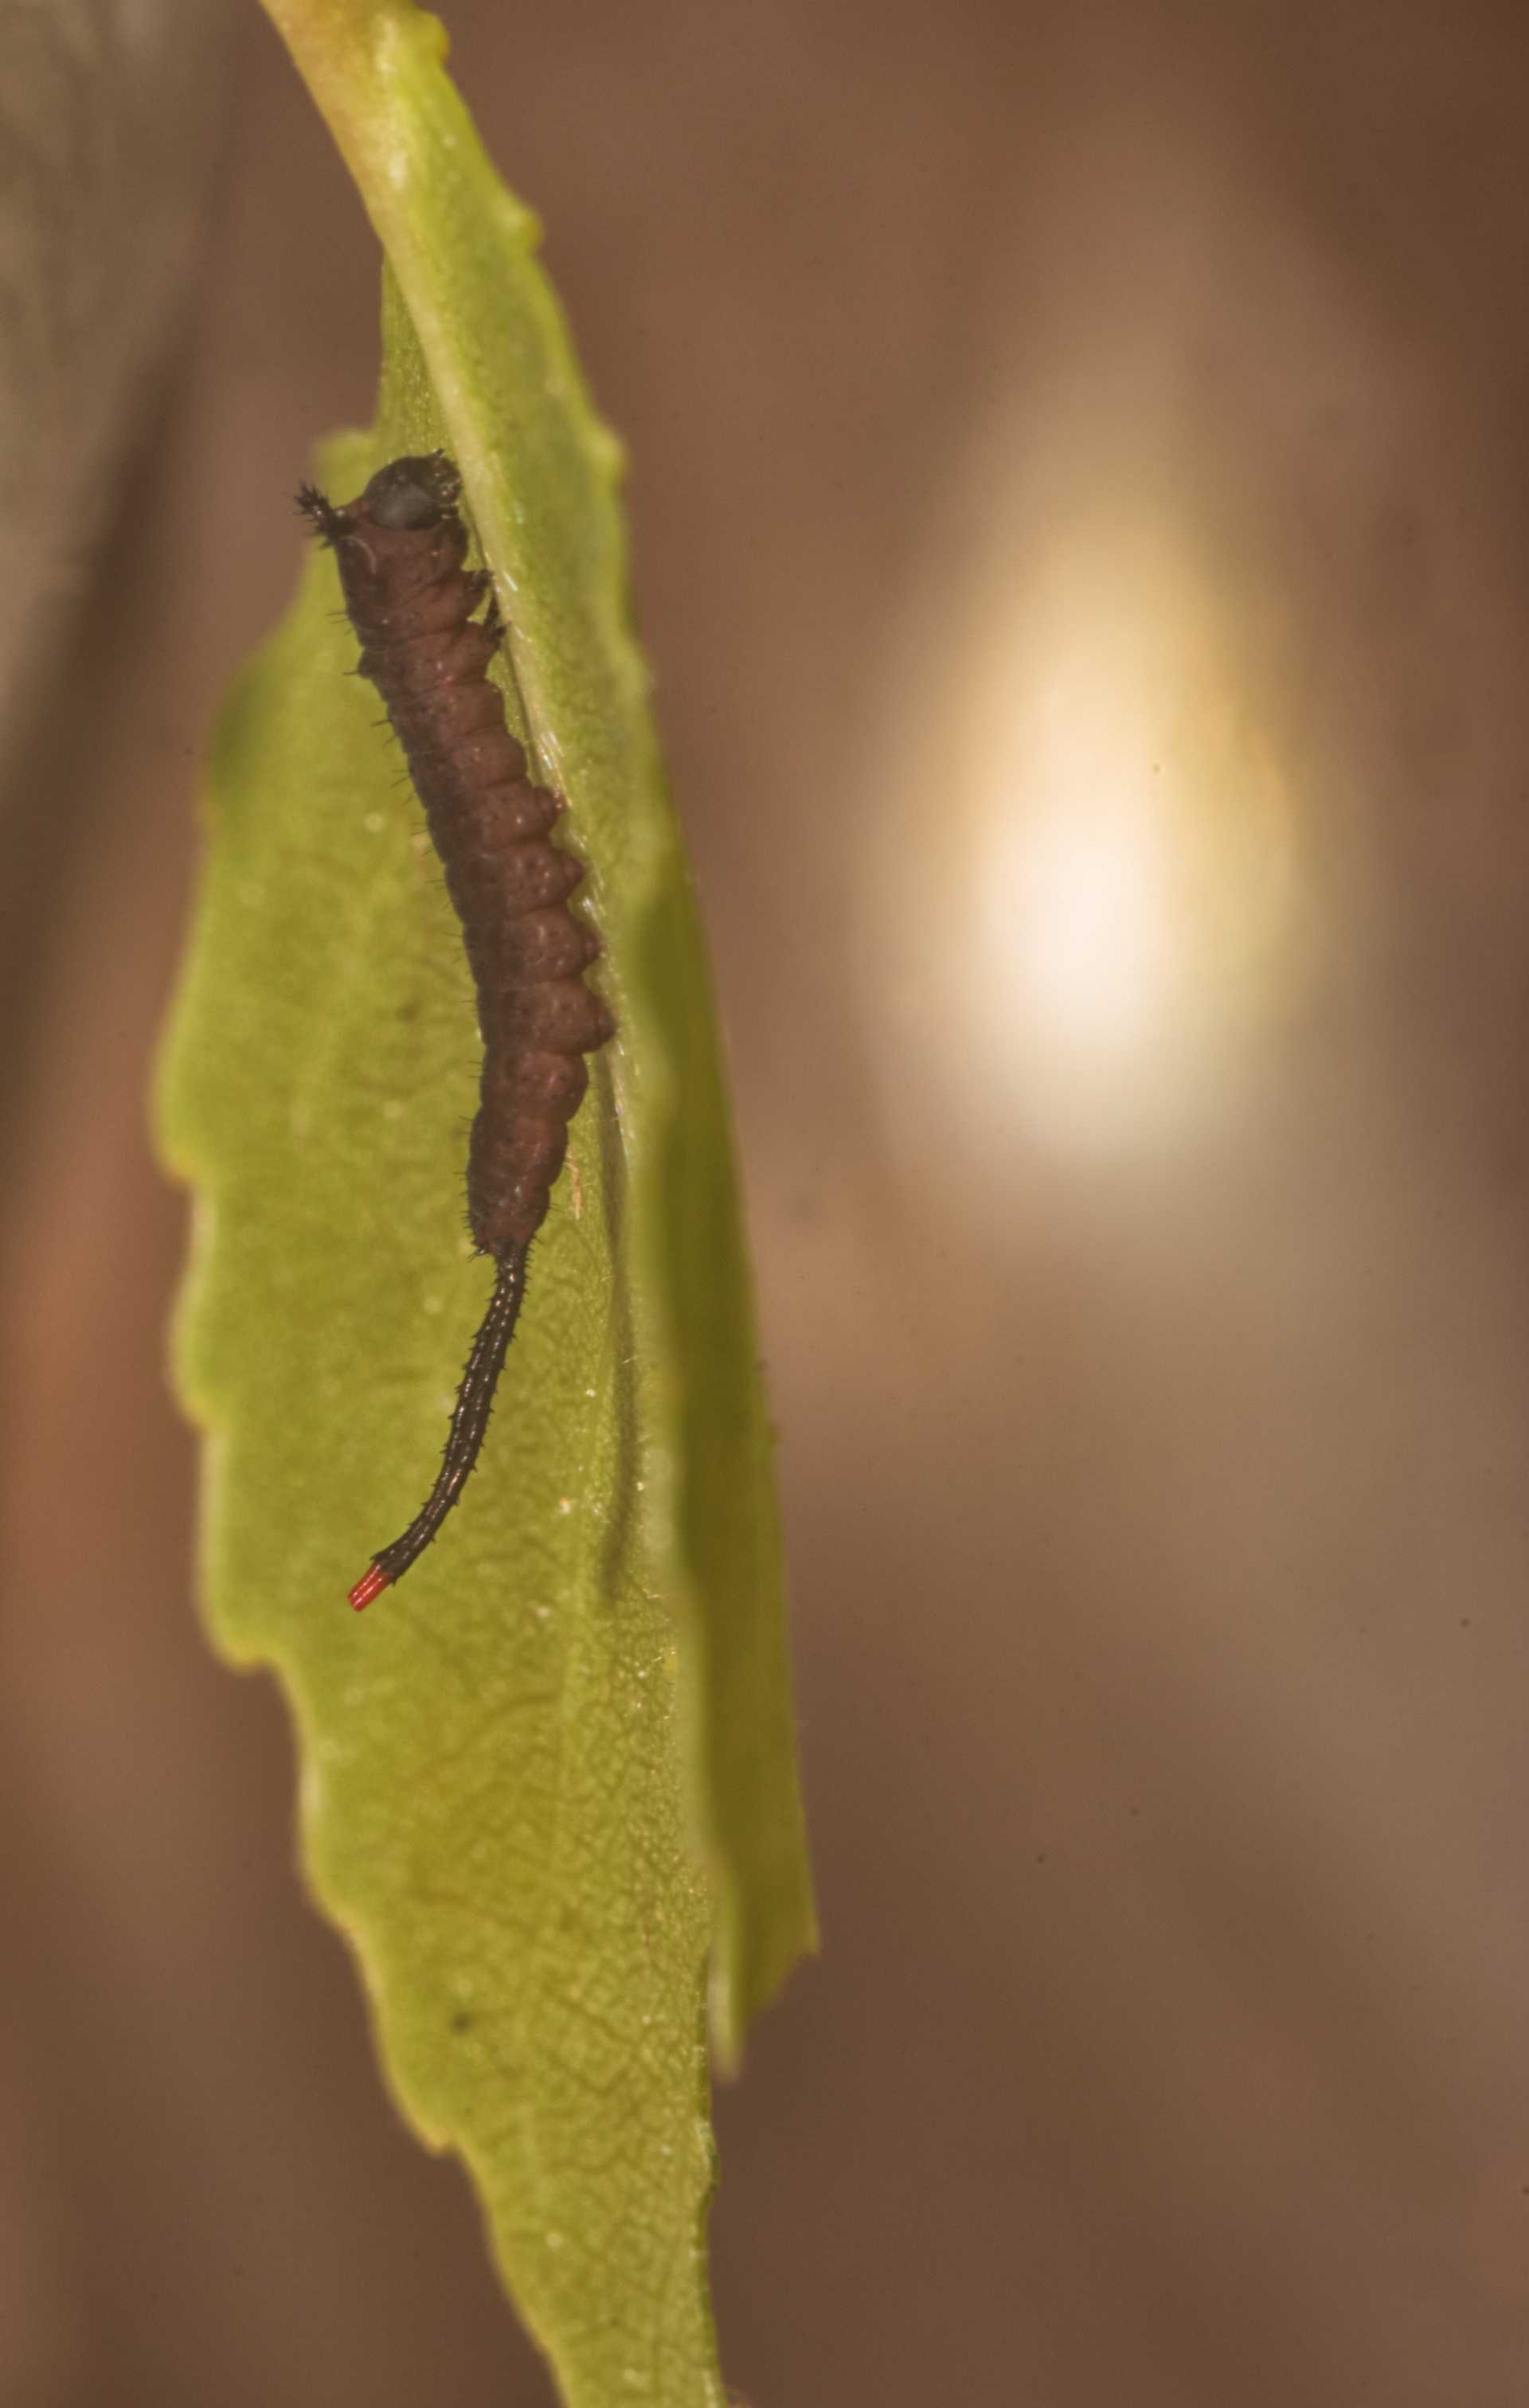
[[[433,1476],[489,1267],[462,1228],[460,932],[313,554],[217,734],[161,1079],[197,1199],[178,1377],[207,1430],[207,1613],[291,1695],[308,1876],[400,2107],[467,2160],[563,2396],[698,2408],[720,2398],[706,1984],[730,2059],[814,1924],[732,1139],[626,624],[619,453],[433,19],[270,7],[392,279],[378,424],[318,482],[349,498],[436,443],[462,467],[510,718],[568,797],[619,1038],[479,1469],[356,1618],[347,1584]]]

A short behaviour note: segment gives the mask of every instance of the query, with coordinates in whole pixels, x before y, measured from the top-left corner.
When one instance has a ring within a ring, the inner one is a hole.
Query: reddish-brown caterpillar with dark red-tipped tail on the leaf
[[[462,479],[445,453],[390,460],[356,501],[315,486],[296,506],[340,561],[359,674],[405,749],[477,985],[484,1074],[467,1146],[467,1226],[498,1267],[472,1341],[445,1454],[407,1531],[349,1592],[356,1611],[409,1570],[472,1471],[525,1293],[525,1255],[563,1168],[583,1057],[614,1021],[583,980],[600,944],[568,910],[583,862],[551,845],[563,797],[532,785],[486,669],[503,628],[486,568],[462,568]],[[489,602],[482,621],[472,616]]]

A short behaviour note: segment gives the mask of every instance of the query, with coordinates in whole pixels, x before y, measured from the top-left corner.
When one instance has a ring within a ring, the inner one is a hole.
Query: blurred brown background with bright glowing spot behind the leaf
[[[730,2382],[1522,2403],[1529,17],[443,14],[631,445],[780,1423]],[[547,2408],[161,1368],[197,759],[376,248],[248,0],[0,31],[0,2398]]]

